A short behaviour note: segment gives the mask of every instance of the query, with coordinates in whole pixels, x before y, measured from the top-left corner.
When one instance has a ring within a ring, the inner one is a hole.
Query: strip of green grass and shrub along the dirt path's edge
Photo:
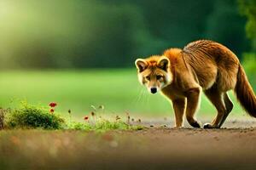
[[[52,106],[53,108],[54,106]],[[73,121],[73,116],[61,117],[47,107],[30,105],[22,102],[19,108],[0,109],[0,129],[59,129],[106,132],[109,130],[142,130],[143,125],[131,122],[127,115],[125,120],[119,116],[114,118],[94,112],[84,116],[84,122]]]

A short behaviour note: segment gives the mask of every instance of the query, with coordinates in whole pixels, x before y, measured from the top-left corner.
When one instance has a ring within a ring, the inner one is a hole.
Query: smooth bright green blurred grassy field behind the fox
[[[244,111],[235,103],[233,116]],[[137,71],[130,70],[79,70],[79,71],[1,71],[0,106],[14,107],[20,100],[35,105],[58,103],[56,111],[67,116],[88,115],[90,105],[104,105],[105,113],[134,116],[172,116],[172,105],[161,94],[149,94],[137,82]],[[212,116],[215,109],[203,95],[199,116]]]

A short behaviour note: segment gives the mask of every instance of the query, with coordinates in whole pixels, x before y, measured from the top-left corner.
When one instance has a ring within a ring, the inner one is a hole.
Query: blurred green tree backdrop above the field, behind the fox
[[[0,68],[128,67],[137,57],[201,38],[238,55],[248,45],[232,0],[0,3]]]

